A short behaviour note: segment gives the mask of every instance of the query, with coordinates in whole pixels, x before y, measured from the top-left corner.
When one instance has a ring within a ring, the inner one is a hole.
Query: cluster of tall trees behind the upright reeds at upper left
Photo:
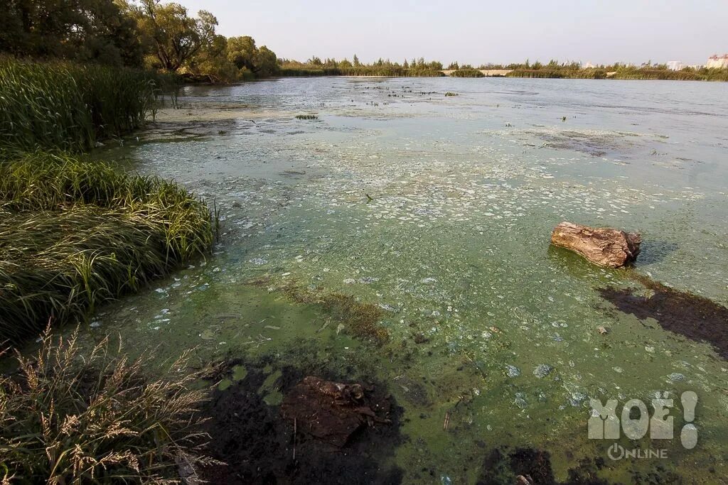
[[[230,82],[278,73],[277,56],[250,36],[215,32],[206,10],[160,0],[3,0],[0,53],[179,73]]]

